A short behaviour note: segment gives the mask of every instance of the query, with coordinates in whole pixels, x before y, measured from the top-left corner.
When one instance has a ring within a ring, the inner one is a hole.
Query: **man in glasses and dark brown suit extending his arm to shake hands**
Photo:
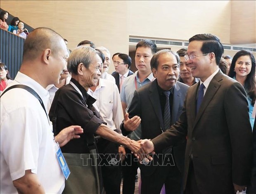
[[[245,190],[249,181],[252,134],[246,92],[219,70],[223,51],[215,35],[190,38],[185,58],[192,76],[201,80],[187,91],[179,121],[152,141],[141,142],[144,151],[159,152],[187,136],[187,194],[232,194]]]

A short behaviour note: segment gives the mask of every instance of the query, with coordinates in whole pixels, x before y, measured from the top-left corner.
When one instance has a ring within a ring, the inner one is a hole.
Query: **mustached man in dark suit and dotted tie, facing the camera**
[[[182,113],[186,97],[187,85],[178,82],[180,73],[180,58],[171,50],[161,50],[154,54],[150,62],[152,72],[156,78],[153,82],[135,90],[134,97],[128,109],[129,117],[140,116],[142,139],[153,139],[164,130],[170,128],[178,121]],[[170,92],[166,99],[164,92]],[[168,100],[168,102],[166,102]],[[168,103],[171,121],[167,124],[165,118],[165,105]],[[128,134],[132,129],[126,121],[122,123],[123,134]],[[140,165],[141,193],[159,194],[165,184],[168,194],[180,194],[186,140],[178,147],[165,155],[159,154],[154,161],[147,165]],[[163,157],[162,157],[163,156]],[[168,159],[167,159],[168,158]]]

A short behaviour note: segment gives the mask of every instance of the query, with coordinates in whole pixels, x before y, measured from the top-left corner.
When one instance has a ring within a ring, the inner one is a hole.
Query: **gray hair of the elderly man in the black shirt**
[[[68,59],[68,71],[70,73],[78,74],[77,67],[80,63],[83,63],[85,68],[89,68],[92,63],[92,57],[100,53],[92,47],[79,46],[71,52]]]

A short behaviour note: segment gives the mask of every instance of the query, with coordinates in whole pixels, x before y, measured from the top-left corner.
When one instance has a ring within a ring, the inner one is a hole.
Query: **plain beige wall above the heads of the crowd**
[[[230,28],[235,9],[232,2],[1,0],[1,8],[34,28],[54,29],[69,41],[71,50],[81,40],[91,40],[96,46],[107,47],[111,54],[128,54],[129,35],[188,40],[197,33],[213,33],[225,44],[230,44],[231,39],[244,40],[246,35],[237,35],[236,29]],[[249,1],[235,2],[251,7]],[[251,17],[255,21],[255,14]],[[113,65],[109,73],[112,71]]]

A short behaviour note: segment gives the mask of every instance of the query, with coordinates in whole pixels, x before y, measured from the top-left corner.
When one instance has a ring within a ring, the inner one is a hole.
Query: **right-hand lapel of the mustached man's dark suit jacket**
[[[174,124],[173,121],[176,121],[177,113],[180,106],[180,86],[176,83],[173,88],[173,102],[172,102],[172,111],[171,111],[171,125]]]

